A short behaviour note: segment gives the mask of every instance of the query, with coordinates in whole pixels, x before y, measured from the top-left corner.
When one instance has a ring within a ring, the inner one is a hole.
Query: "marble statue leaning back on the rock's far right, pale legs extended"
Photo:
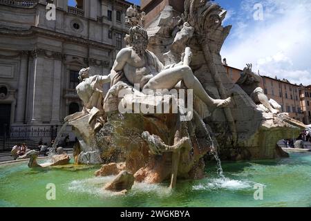
[[[243,90],[245,90],[247,95],[249,95],[249,97],[253,99],[255,104],[263,104],[263,106],[273,114],[280,113],[279,110],[272,107],[272,104],[274,104],[274,106],[279,108],[279,104],[275,104],[275,101],[273,101],[273,103],[271,104],[269,102],[269,99],[263,92],[263,88],[260,87],[261,81],[261,76],[256,75],[252,72],[252,64],[247,64],[247,67],[244,68],[243,73],[240,79],[236,81],[236,84],[238,84]]]

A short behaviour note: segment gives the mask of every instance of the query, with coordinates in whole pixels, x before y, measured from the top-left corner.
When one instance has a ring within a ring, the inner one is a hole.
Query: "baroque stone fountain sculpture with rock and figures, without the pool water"
[[[167,6],[149,25],[129,8],[126,48],[110,75],[79,73],[82,112],[66,117],[79,143],[76,164],[103,164],[95,175],[117,175],[105,186],[160,183],[204,177],[205,160],[287,157],[277,142],[298,135],[303,124],[279,113],[258,88],[250,65],[234,84],[220,49],[231,26],[216,3],[186,0],[182,15]],[[108,93],[103,84],[111,82]],[[187,104],[187,105],[186,105]]]

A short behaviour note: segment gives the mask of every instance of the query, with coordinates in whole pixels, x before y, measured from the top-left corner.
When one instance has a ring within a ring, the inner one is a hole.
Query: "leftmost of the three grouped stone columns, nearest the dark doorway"
[[[22,52],[21,66],[19,71],[19,86],[17,95],[17,112],[16,123],[23,124],[25,122],[25,106],[26,106],[26,88],[27,88],[27,73],[28,73],[28,52]]]

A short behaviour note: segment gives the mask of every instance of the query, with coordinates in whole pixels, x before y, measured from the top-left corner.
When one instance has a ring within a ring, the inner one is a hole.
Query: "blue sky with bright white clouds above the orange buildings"
[[[221,51],[229,66],[311,84],[311,1],[263,0],[263,21],[252,17],[255,0],[244,0],[232,16],[232,34]]]

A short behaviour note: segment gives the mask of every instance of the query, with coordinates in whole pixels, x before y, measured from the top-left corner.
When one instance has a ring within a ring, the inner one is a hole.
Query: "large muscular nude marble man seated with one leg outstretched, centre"
[[[144,28],[140,26],[131,28],[127,40],[131,47],[120,50],[113,65],[113,71],[116,73],[123,71],[131,84],[140,85],[142,92],[147,89],[171,90],[180,81],[184,81],[185,86],[193,89],[194,94],[207,106],[223,108],[231,103],[231,98],[223,100],[209,97],[187,65],[190,64],[191,55],[186,55],[184,62],[164,67],[156,55],[147,50],[148,35]]]

